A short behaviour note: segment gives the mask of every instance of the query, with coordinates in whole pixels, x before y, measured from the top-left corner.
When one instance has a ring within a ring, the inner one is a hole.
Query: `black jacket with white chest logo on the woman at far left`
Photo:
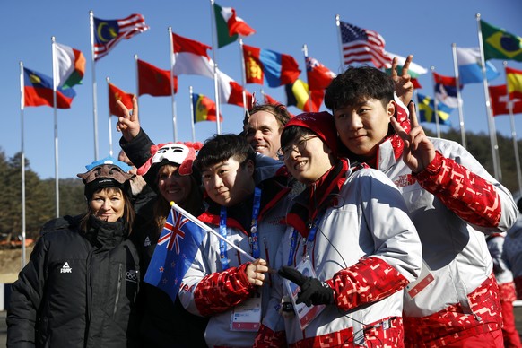
[[[121,222],[48,222],[13,283],[8,347],[135,347],[139,259]]]

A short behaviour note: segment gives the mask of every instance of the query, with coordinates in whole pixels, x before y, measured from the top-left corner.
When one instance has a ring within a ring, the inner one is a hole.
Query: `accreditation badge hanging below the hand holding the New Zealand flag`
[[[232,309],[231,331],[258,331],[261,326],[261,291]]]

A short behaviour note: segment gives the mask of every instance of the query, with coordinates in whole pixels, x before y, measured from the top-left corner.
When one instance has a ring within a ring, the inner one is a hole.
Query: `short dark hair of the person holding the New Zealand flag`
[[[199,171],[234,158],[239,163],[251,160],[256,163],[256,152],[242,135],[213,135],[205,140],[203,147],[197,152],[195,166]]]

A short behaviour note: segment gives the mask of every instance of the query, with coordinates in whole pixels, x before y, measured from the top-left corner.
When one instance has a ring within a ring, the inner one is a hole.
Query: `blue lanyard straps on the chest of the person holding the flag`
[[[261,206],[261,188],[254,189],[254,203],[252,206],[252,222],[250,224],[250,248],[252,248],[252,256],[259,257],[259,233],[257,232],[257,217]],[[223,238],[227,238],[227,208],[222,206],[220,212],[220,234]],[[227,243],[220,239],[220,261],[223,270],[229,268],[229,257],[227,256]]]

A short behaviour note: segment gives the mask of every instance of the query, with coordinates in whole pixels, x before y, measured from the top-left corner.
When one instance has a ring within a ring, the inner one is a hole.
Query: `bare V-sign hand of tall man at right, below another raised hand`
[[[428,164],[435,158],[435,147],[424,133],[422,126],[419,126],[415,105],[410,103],[408,109],[410,110],[410,122],[412,125],[410,134],[405,132],[405,129],[397,122],[396,117],[390,117],[390,122],[396,130],[396,134],[405,142],[403,161],[405,161],[405,164],[413,173],[419,173],[426,169]]]

